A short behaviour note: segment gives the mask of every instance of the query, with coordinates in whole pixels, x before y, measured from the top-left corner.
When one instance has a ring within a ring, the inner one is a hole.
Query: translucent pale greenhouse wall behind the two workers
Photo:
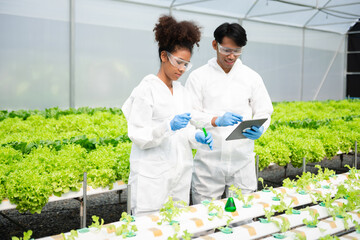
[[[74,2],[70,84],[70,1],[0,0],[0,109],[68,108],[70,97],[74,107],[121,107],[145,75],[157,73],[152,30],[169,9],[112,0]],[[202,26],[193,69],[215,56],[214,29],[239,22],[248,34],[241,59],[263,77],[273,101],[344,98],[344,35],[206,13],[172,14]]]

